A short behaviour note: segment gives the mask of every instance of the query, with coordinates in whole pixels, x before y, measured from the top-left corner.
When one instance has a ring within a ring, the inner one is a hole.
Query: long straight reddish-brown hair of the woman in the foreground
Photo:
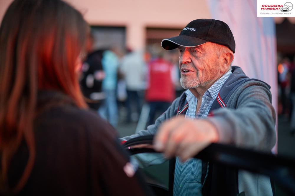
[[[35,162],[33,134],[38,89],[54,89],[86,108],[76,74],[87,24],[60,0],[15,0],[0,27],[0,192],[16,193]],[[9,162],[25,141],[29,159],[15,187],[9,187]]]

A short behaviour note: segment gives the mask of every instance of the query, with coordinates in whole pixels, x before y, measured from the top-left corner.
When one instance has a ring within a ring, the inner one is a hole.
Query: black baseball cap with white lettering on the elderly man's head
[[[178,46],[194,47],[206,42],[227,46],[235,53],[235,39],[230,27],[223,21],[214,19],[196,19],[182,29],[179,36],[163,39],[161,45],[166,50]]]

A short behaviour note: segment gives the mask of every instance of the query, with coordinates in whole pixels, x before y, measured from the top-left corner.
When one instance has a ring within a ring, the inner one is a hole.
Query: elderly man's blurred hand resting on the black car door
[[[216,127],[206,120],[177,117],[164,122],[154,139],[154,147],[165,156],[179,156],[182,161],[195,156],[212,142],[218,141]]]

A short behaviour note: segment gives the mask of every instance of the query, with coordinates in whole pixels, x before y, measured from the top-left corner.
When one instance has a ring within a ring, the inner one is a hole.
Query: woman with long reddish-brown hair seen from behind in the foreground
[[[60,0],[16,0],[0,27],[0,195],[150,195],[78,83],[87,24]]]

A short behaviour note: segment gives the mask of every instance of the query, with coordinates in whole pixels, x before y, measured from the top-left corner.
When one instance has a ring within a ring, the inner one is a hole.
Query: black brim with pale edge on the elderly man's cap
[[[197,37],[187,36],[187,35],[179,35],[167,39],[163,39],[161,42],[161,46],[165,50],[173,50],[178,48],[178,46],[183,47],[195,47],[208,42],[205,39],[200,39]]]

